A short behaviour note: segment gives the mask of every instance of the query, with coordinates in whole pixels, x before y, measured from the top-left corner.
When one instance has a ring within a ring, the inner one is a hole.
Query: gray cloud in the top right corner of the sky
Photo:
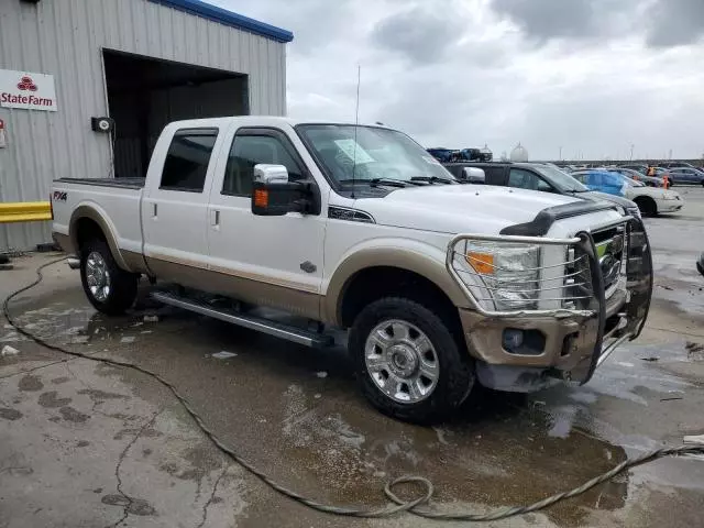
[[[704,0],[659,0],[647,11],[647,44],[672,47],[694,44],[704,35]]]

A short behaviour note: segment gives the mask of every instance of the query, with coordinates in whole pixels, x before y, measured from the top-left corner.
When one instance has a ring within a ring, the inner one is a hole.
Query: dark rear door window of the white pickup
[[[202,193],[217,139],[218,129],[177,131],[164,161],[160,188]]]

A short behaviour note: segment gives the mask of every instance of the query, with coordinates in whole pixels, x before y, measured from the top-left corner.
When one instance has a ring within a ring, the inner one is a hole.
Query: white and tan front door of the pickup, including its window
[[[226,152],[228,154],[226,155]],[[210,270],[232,297],[317,318],[326,221],[320,215],[252,215],[254,165],[284,165],[290,180],[307,168],[280,130],[232,129],[210,191]]]

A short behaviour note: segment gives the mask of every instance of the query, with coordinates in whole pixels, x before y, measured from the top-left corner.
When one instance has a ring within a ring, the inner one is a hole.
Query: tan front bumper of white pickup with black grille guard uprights
[[[593,240],[590,251],[594,310],[530,310],[516,315],[491,315],[460,309],[468,350],[477,360],[477,375],[493,388],[530,392],[556,380],[584,384],[620,343],[642,330],[652,293],[652,261],[642,222],[626,226],[627,249],[622,287],[604,297],[604,278]],[[601,298],[600,298],[601,297]],[[512,346],[520,336],[521,346]]]

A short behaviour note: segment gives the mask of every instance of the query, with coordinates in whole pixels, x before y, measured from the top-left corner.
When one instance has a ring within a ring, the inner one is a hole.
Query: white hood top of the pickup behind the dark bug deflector
[[[548,207],[581,201],[572,196],[490,185],[408,187],[384,198],[360,198],[354,208],[377,224],[442,233],[498,232],[529,222]]]

